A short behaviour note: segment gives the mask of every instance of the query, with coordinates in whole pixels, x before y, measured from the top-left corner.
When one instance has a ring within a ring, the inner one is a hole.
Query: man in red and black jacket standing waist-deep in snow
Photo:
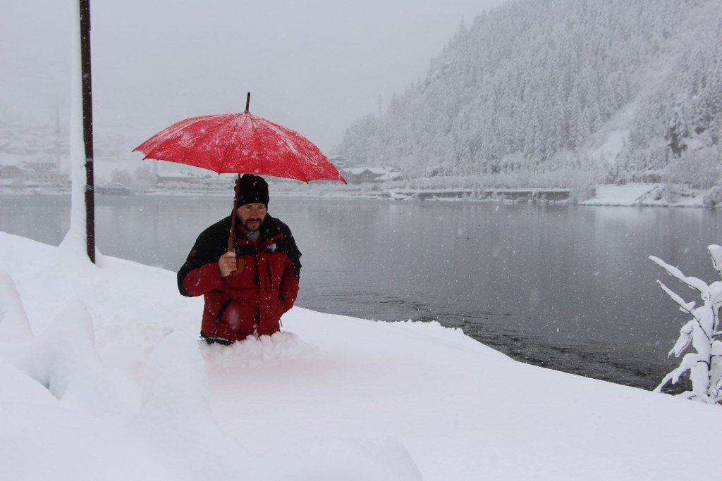
[[[209,344],[277,332],[298,293],[301,253],[288,226],[266,211],[268,184],[243,175],[238,195],[235,252],[226,252],[228,216],[201,232],[178,271],[183,296],[204,296],[201,337]]]

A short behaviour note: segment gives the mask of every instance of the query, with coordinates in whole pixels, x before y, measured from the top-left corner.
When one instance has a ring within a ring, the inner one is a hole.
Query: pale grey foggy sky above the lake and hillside
[[[386,107],[503,0],[91,0],[95,130],[131,143],[192,115],[251,112],[321,149]],[[0,3],[0,120],[69,116],[77,0]],[[130,146],[131,148],[135,145]]]

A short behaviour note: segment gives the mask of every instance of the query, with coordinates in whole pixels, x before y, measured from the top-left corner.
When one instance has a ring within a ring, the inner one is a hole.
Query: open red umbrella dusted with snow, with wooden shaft
[[[334,164],[308,138],[282,125],[248,112],[201,115],[156,133],[134,151],[144,159],[167,160],[209,169],[219,174],[272,175],[287,179],[339,180],[346,183]],[[233,248],[238,187],[235,184],[228,250]]]

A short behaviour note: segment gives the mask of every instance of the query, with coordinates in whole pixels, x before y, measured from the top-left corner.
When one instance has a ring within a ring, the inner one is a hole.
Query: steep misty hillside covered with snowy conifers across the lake
[[[719,0],[520,0],[462,25],[337,151],[412,178],[708,187],[721,136]]]

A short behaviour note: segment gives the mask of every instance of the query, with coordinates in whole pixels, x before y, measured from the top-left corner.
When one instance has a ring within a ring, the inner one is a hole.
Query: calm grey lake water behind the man
[[[105,255],[177,270],[230,200],[99,196]],[[705,281],[722,211],[274,198],[303,252],[297,304],[367,319],[436,320],[518,360],[650,389],[684,314],[656,255]],[[58,244],[69,198],[0,198],[0,230]],[[179,302],[183,300],[178,299]],[[200,313],[199,313],[200,317]]]

